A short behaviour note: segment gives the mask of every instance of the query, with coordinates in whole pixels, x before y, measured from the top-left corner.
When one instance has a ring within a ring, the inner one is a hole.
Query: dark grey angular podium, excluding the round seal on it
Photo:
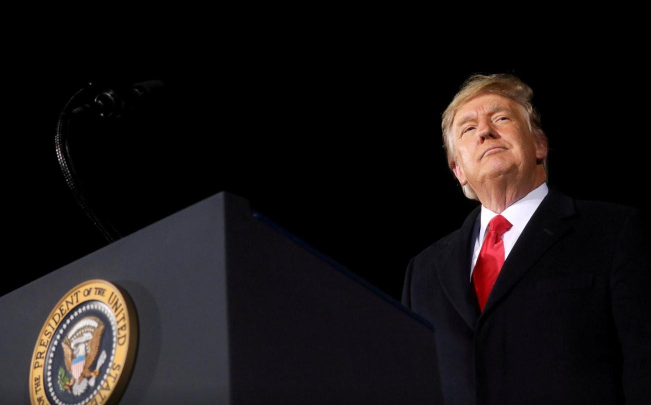
[[[2,404],[29,403],[39,331],[90,279],[137,313],[120,404],[441,403],[431,326],[221,192],[0,297]]]

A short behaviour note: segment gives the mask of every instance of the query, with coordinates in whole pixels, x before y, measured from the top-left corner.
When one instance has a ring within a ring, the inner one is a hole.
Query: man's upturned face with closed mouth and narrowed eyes
[[[536,176],[547,155],[536,142],[526,113],[512,99],[486,93],[463,104],[452,122],[455,156],[452,170],[461,185],[477,190],[500,176],[515,180]]]

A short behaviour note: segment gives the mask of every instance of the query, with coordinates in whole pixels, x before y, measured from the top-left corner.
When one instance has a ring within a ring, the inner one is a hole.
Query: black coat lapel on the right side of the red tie
[[[482,312],[489,313],[547,250],[569,230],[562,218],[575,213],[574,200],[553,189],[542,200],[513,246]]]

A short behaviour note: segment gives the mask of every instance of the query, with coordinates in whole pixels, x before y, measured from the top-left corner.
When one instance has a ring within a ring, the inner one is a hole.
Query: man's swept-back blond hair
[[[454,137],[452,134],[454,115],[466,101],[483,93],[498,94],[499,96],[516,101],[527,113],[529,131],[531,131],[538,142],[548,144],[547,135],[545,135],[540,127],[540,115],[531,104],[531,98],[533,97],[531,87],[527,86],[518,77],[505,73],[496,75],[472,75],[466,79],[459,92],[457,92],[452,102],[450,102],[450,105],[445,109],[441,120],[443,148],[445,148],[450,169],[452,169],[452,163],[454,163]],[[547,173],[547,157],[545,157],[543,167],[545,173]],[[470,183],[466,183],[463,189],[467,198],[478,200],[477,193],[470,187]]]

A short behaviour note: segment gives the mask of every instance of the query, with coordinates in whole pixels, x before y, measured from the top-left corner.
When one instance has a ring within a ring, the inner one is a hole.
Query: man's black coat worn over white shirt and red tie
[[[403,303],[432,322],[446,404],[651,404],[651,265],[638,210],[553,189],[480,313],[477,207],[413,257]]]

